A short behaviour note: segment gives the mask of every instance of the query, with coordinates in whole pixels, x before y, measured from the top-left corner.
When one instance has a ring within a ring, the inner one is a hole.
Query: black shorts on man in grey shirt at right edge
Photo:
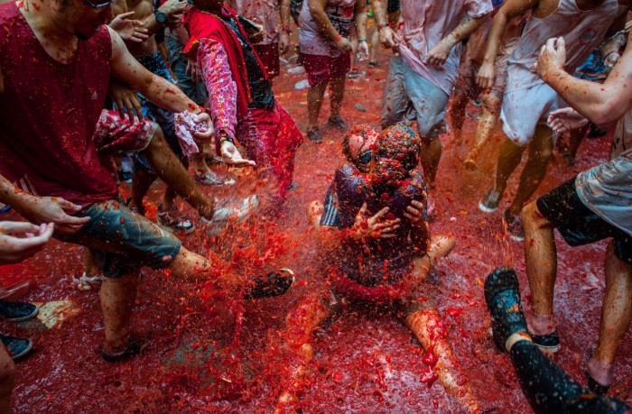
[[[575,189],[575,177],[538,198],[537,208],[566,243],[580,246],[612,237],[617,257],[632,263],[632,236],[610,225],[581,202]]]

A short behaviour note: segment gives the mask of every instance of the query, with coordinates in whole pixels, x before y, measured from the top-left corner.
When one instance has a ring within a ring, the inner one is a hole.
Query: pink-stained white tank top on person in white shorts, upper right
[[[582,11],[575,0],[560,0],[557,10],[543,19],[533,14],[526,23],[516,51],[507,60],[507,89],[513,91],[541,85],[534,64],[542,46],[552,37],[566,41],[565,69],[572,73],[603,40],[617,16],[617,0],[605,0],[590,11]]]

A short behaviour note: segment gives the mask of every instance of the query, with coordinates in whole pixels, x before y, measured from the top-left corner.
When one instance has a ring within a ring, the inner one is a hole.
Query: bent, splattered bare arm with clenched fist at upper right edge
[[[623,53],[602,85],[573,78],[563,68],[565,60],[563,38],[549,39],[538,58],[537,71],[570,106],[597,124],[608,124],[625,115],[632,102],[630,48]]]

